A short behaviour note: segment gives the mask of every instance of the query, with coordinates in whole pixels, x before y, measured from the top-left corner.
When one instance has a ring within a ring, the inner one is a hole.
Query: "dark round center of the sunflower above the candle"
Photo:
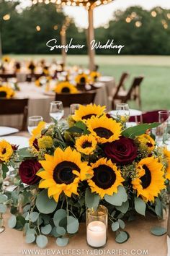
[[[109,166],[102,164],[94,168],[94,176],[92,181],[101,189],[109,189],[115,183],[115,172]]]

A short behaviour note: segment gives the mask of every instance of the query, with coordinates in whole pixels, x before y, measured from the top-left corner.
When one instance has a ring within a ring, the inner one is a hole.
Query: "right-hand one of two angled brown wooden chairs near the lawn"
[[[127,103],[130,100],[138,101],[138,106],[141,108],[141,98],[140,98],[140,84],[144,77],[135,77],[132,85],[128,91],[122,91],[113,96],[112,108],[115,109],[115,101],[118,100],[121,103]]]

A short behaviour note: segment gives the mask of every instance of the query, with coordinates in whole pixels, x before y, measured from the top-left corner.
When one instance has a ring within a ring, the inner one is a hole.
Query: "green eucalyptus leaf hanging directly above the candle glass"
[[[87,208],[94,208],[94,210],[96,210],[99,205],[99,200],[99,195],[91,193],[91,190],[89,188],[86,189],[85,202]]]

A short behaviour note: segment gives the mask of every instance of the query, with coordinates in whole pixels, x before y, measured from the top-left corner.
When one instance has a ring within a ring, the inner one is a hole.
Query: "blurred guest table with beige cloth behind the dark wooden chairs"
[[[28,116],[42,116],[45,121],[50,121],[50,102],[54,101],[55,93],[45,93],[45,87],[37,87],[35,82],[20,82],[18,83],[20,91],[16,93],[15,98],[29,98]],[[109,110],[109,104],[107,101],[107,89],[103,82],[97,82],[97,95],[94,103],[102,106],[107,106]],[[66,109],[65,116],[69,114],[69,110]],[[18,127],[21,123],[22,116],[1,116],[0,125]]]

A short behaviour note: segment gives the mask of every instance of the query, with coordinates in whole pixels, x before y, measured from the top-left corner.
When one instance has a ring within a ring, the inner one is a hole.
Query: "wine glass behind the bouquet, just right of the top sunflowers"
[[[125,127],[126,122],[130,118],[130,109],[128,104],[126,103],[117,103],[116,104],[116,116],[117,121],[122,123],[123,127]]]

